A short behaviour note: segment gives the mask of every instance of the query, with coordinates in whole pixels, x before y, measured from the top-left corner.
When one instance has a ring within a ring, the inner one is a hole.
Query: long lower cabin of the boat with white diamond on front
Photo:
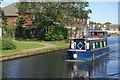
[[[107,47],[107,40],[105,39],[73,39],[70,41],[69,49],[77,49],[81,51],[95,50]]]

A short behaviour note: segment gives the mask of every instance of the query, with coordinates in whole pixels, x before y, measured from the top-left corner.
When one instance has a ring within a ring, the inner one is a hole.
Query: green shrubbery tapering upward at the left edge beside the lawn
[[[8,49],[15,49],[16,45],[13,42],[11,37],[11,29],[7,24],[7,17],[5,16],[4,12],[2,11],[2,48],[0,50],[8,50]]]

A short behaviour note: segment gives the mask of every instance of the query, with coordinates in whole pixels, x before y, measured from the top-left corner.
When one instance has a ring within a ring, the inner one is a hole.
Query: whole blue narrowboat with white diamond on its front
[[[71,39],[67,60],[90,61],[109,53],[107,31],[89,31],[85,38]]]

